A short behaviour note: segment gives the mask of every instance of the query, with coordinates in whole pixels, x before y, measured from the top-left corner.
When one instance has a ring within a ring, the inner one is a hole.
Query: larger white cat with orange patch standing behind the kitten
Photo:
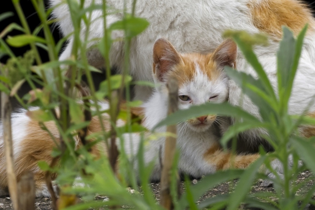
[[[85,6],[92,0],[86,0]],[[108,0],[109,6],[123,10],[123,0]],[[65,1],[50,0],[54,7],[53,16],[59,21],[60,30],[64,35],[73,31],[70,13]],[[95,0],[95,4],[101,4]],[[126,1],[127,11],[131,11],[132,0]],[[89,28],[89,39],[103,36],[103,20],[101,10],[91,14],[92,24]],[[289,26],[295,35],[308,23],[308,31],[304,40],[298,71],[293,91],[289,101],[289,113],[301,114],[309,105],[315,94],[315,22],[310,9],[298,0],[138,0],[135,15],[146,18],[150,26],[140,35],[132,39],[130,53],[130,70],[135,80],[152,80],[151,77],[151,49],[157,38],[165,37],[179,52],[211,52],[222,42],[222,33],[226,29],[245,30],[249,33],[264,32],[268,35],[270,45],[255,47],[255,53],[277,89],[276,52],[282,37],[281,26]],[[121,20],[122,12],[110,14],[106,23],[110,26]],[[82,24],[82,34],[86,27]],[[112,33],[114,39],[123,37],[122,31]],[[73,38],[60,55],[60,60],[70,56]],[[95,43],[95,42],[94,42]],[[110,52],[111,65],[118,71],[123,69],[123,42],[114,42]],[[94,48],[88,53],[91,65],[102,67],[104,60],[99,51]],[[243,71],[256,77],[253,69],[247,64],[242,54],[238,53],[236,62],[238,71]],[[145,87],[135,89],[138,99],[147,99],[150,90]],[[240,105],[246,111],[259,116],[257,107],[243,97],[240,88],[230,82],[228,101],[233,105]],[[315,111],[315,104],[311,104],[309,112]],[[232,120],[233,121],[233,120]],[[256,142],[262,130],[244,132],[245,139]]]

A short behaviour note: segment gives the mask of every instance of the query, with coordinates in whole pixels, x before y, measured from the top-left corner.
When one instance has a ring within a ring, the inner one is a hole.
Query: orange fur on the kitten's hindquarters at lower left
[[[23,141],[20,143],[20,155],[16,157],[15,162],[15,173],[17,181],[24,175],[26,172],[34,173],[35,187],[41,189],[45,185],[45,173],[41,171],[37,163],[38,161],[46,161],[50,164],[53,161],[51,152],[56,144],[60,144],[59,131],[53,121],[44,123],[49,132],[54,136],[54,140],[51,138],[49,133],[43,130],[37,121],[30,121],[27,125],[28,134],[25,136]],[[110,123],[108,122],[108,117],[103,117],[103,124],[105,130],[110,129]],[[97,117],[93,117],[91,123],[88,126],[88,135],[91,133],[96,133],[102,131],[100,126],[100,121]],[[76,139],[78,141],[78,139]],[[77,146],[80,146],[81,142],[77,142]],[[100,157],[100,152],[105,152],[107,155],[107,150],[104,142],[94,145],[91,148],[91,153],[95,157]],[[0,158],[4,158],[4,149],[0,148]],[[1,161],[1,164],[4,164],[4,161]],[[0,171],[0,186],[2,188],[7,187],[6,180],[6,171]],[[55,179],[56,174],[51,174],[51,179]]]

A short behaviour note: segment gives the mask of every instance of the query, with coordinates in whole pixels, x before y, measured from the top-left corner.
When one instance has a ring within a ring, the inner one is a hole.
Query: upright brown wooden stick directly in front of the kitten
[[[168,80],[167,88],[169,90],[168,114],[171,114],[178,109],[178,82],[174,77],[171,77]],[[168,126],[166,131],[167,133],[176,135],[176,125]],[[167,136],[165,139],[164,159],[161,174],[160,204],[168,210],[174,208],[173,198],[170,194],[170,180],[175,149],[176,138],[174,136]]]

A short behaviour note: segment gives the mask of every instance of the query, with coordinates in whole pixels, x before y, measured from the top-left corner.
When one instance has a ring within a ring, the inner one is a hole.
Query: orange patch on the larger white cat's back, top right
[[[252,1],[247,6],[251,11],[254,26],[278,39],[282,37],[283,25],[288,26],[295,35],[306,23],[314,25],[311,10],[301,1],[261,0],[259,3]]]

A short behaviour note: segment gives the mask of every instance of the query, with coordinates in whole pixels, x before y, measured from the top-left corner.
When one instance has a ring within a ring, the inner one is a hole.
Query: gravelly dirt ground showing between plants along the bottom
[[[297,183],[307,180],[307,185],[303,189],[298,190],[296,193],[302,193],[304,190],[307,190],[312,187],[314,184],[314,176],[309,171],[305,171],[299,175]],[[192,184],[198,183],[198,180],[192,180]],[[272,186],[269,187],[262,187],[261,186],[262,180],[257,180],[255,184],[252,186],[251,193],[257,192],[274,192],[274,188]],[[237,184],[237,180],[232,180],[229,182],[225,182],[222,184],[218,184],[216,187],[210,189],[206,194],[204,194],[197,203],[203,201],[206,198],[213,197],[216,195],[222,195],[229,193],[233,190],[234,186]],[[160,183],[152,183],[151,184],[152,191],[156,197],[156,200],[159,201],[159,193],[160,193]],[[181,183],[182,190],[184,189],[183,183]],[[105,196],[96,196],[95,199],[97,200],[104,200]],[[315,196],[313,196],[315,198]],[[123,207],[124,208],[124,207]],[[11,210],[12,203],[9,197],[0,197],[0,210]],[[35,201],[35,209],[37,210],[52,210],[51,207],[51,200],[50,198],[37,198]],[[104,208],[100,208],[104,209]],[[250,209],[246,208],[246,206],[241,207],[240,209]],[[254,210],[254,209],[253,209]],[[258,210],[255,208],[255,210]],[[308,205],[305,210],[315,210],[315,206]]]

